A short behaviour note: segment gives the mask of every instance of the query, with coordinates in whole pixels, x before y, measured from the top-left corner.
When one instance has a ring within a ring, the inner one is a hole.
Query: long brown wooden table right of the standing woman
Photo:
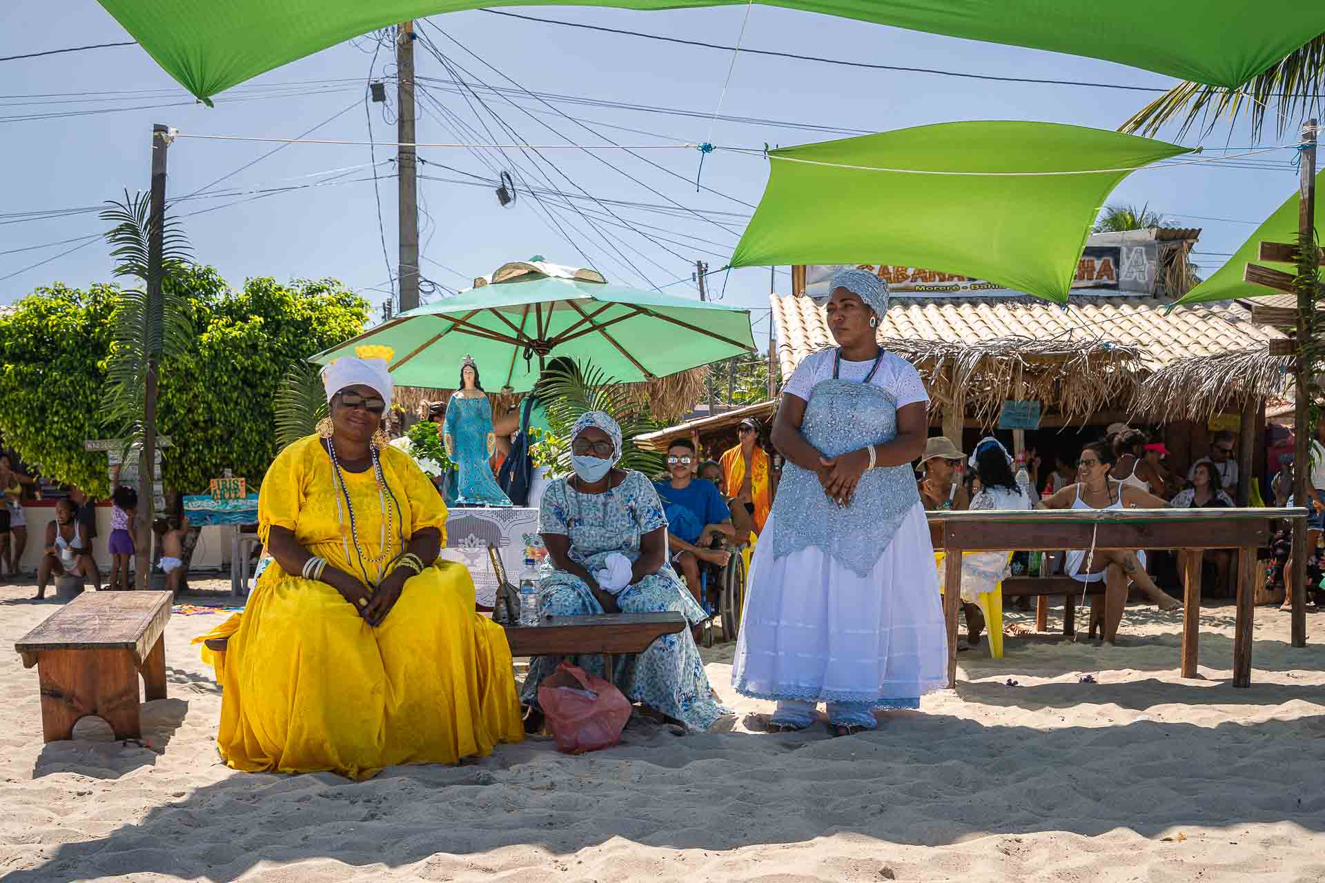
[[[1234,629],[1234,686],[1251,686],[1252,585],[1256,549],[1269,545],[1273,522],[1305,519],[1305,508],[1126,508],[926,512],[935,549],[947,553],[943,618],[947,622],[947,684],[957,686],[957,614],[962,552],[1006,549],[1182,549],[1185,596],[1182,676],[1196,675],[1200,631],[1200,556],[1238,549],[1238,614]]]

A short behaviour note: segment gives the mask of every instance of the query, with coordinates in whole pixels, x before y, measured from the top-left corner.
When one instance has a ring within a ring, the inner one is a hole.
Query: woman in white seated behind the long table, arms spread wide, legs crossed
[[[1165,508],[1169,506],[1137,487],[1120,482],[1109,475],[1114,465],[1113,451],[1104,442],[1092,442],[1081,450],[1077,462],[1076,485],[1068,485],[1057,494],[1039,503],[1039,508]],[[1090,567],[1086,568],[1086,559]],[[1093,555],[1085,551],[1068,552],[1068,576],[1081,582],[1106,584],[1104,596],[1104,639],[1109,643],[1117,638],[1122,609],[1128,601],[1128,584],[1150,598],[1161,610],[1181,610],[1182,602],[1166,594],[1145,568],[1145,552],[1096,549]],[[1092,620],[1097,616],[1098,597],[1090,598]]]

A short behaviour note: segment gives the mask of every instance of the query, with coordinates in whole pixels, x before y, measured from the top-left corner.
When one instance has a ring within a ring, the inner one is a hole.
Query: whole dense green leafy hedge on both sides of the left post
[[[276,400],[290,364],[359,334],[368,304],[331,279],[257,278],[235,291],[205,266],[166,287],[184,302],[196,338],[162,363],[159,425],[172,437],[163,482],[197,494],[232,469],[257,487],[278,450]],[[56,285],[0,314],[0,436],[46,478],[102,498],[106,455],[82,443],[107,432],[101,392],[122,295],[110,285]]]

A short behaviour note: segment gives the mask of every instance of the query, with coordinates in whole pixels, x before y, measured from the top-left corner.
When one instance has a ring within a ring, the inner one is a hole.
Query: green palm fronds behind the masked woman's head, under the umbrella
[[[660,429],[660,425],[627,384],[616,383],[602,368],[588,361],[576,361],[574,371],[550,371],[539,389],[539,398],[543,400],[547,424],[555,436],[568,438],[575,421],[591,410],[602,410],[621,426],[620,467],[651,477],[662,471],[662,454],[635,445],[636,437]],[[559,454],[555,471],[564,474],[570,469],[567,446]]]

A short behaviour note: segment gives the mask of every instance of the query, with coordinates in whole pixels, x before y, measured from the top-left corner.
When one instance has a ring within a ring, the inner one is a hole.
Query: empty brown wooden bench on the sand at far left
[[[45,741],[73,739],[97,715],[115,739],[140,739],[138,676],[148,702],[166,698],[170,592],[87,592],[13,645],[37,666]]]

